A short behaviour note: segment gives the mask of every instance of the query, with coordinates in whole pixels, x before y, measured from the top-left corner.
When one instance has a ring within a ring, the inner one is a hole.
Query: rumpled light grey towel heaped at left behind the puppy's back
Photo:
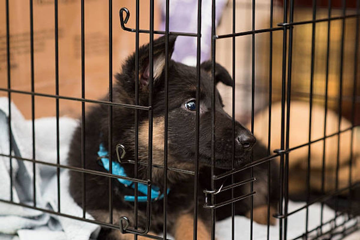
[[[66,164],[69,142],[77,121],[67,117],[59,119],[60,164]],[[13,156],[32,158],[32,126],[15,105],[11,105]],[[8,99],[0,98],[0,153],[9,154]],[[56,163],[56,119],[35,120],[35,159]],[[33,166],[30,161],[12,159],[13,200],[33,206]],[[60,171],[60,210],[62,213],[81,217],[68,191],[68,171]],[[0,198],[10,200],[10,161],[0,156]],[[57,211],[56,167],[36,164],[36,206]],[[93,219],[89,214],[86,218]],[[0,239],[33,240],[88,240],[96,238],[99,226],[43,213],[34,209],[0,202]],[[6,234],[6,235],[5,235]],[[13,236],[11,236],[13,235]],[[17,236],[14,236],[17,235]]]

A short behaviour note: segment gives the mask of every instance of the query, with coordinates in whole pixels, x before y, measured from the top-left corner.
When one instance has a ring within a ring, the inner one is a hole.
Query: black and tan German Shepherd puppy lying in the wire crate
[[[201,88],[200,104],[195,101],[197,88],[196,68],[186,66],[170,60],[174,50],[176,37],[169,36],[168,52],[165,56],[165,36],[154,41],[154,81],[153,81],[153,163],[163,165],[164,161],[164,67],[165,57],[169,58],[168,64],[168,93],[170,97],[168,112],[168,167],[175,167],[184,170],[194,170],[195,156],[195,110],[200,108],[200,143],[199,143],[199,214],[198,214],[198,239],[210,239],[210,214],[209,209],[203,208],[204,189],[211,189],[210,165],[211,165],[211,120],[212,120],[212,84],[211,84],[211,63],[204,62],[201,65]],[[223,82],[227,85],[232,84],[229,73],[216,64],[216,82]],[[148,106],[149,99],[149,45],[144,45],[139,49],[139,105]],[[122,72],[116,74],[117,82],[113,86],[113,100],[118,103],[135,104],[135,54],[131,55],[123,64]],[[232,119],[223,110],[223,104],[218,91],[215,93],[216,105],[216,149],[215,167],[216,174],[231,169],[232,159]],[[104,98],[107,99],[107,98]],[[99,146],[103,144],[108,147],[108,122],[109,109],[106,105],[93,107],[86,113],[85,121],[85,167],[86,169],[107,172],[99,164]],[[139,120],[139,162],[148,162],[148,131],[149,114],[148,111],[138,111]],[[113,149],[107,149],[112,154],[112,160],[117,162],[116,144],[123,144],[126,148],[126,159],[134,159],[135,155],[135,110],[125,107],[113,107],[112,113],[112,142]],[[252,149],[256,139],[251,132],[244,128],[240,123],[235,122],[235,165],[242,166],[251,161]],[[257,145],[254,160],[266,155],[264,147]],[[79,126],[73,134],[71,149],[68,155],[69,164],[80,166],[81,162],[81,127]],[[134,177],[134,164],[122,163],[121,166],[129,177]],[[138,178],[147,179],[147,166],[138,166]],[[277,174],[273,174],[277,176]],[[254,168],[254,176],[257,183],[254,189],[258,195],[254,197],[255,221],[266,223],[267,221],[267,202],[268,186],[267,175],[264,166]],[[239,172],[235,176],[235,181],[249,178],[249,170]],[[167,226],[168,232],[177,240],[193,239],[193,209],[194,209],[194,176],[182,172],[168,170],[167,196]],[[71,171],[70,191],[75,201],[82,206],[81,174]],[[230,179],[226,180],[230,183]],[[85,206],[95,220],[109,222],[109,187],[108,177],[98,175],[85,175]],[[222,184],[219,183],[218,185]],[[273,180],[276,183],[276,180]],[[152,184],[163,189],[163,169],[152,168]],[[249,185],[249,184],[248,184]],[[235,197],[249,193],[249,186],[242,185],[234,189]],[[113,186],[113,223],[119,224],[121,216],[129,219],[130,227],[134,226],[134,203],[124,200],[124,195],[134,195],[134,189],[124,186],[116,179],[112,181]],[[272,196],[277,197],[276,188]],[[224,191],[217,195],[218,203],[223,200],[231,199],[230,191]],[[140,194],[140,193],[139,193]],[[270,201],[275,204],[275,200]],[[272,204],[273,206],[275,206]],[[251,209],[249,199],[238,201],[235,204],[235,214],[248,214]],[[258,207],[258,208],[256,208]],[[257,209],[260,209],[257,211]],[[273,211],[271,211],[273,212]],[[146,203],[138,203],[138,227],[145,226]],[[231,208],[228,204],[216,213],[217,219],[222,219],[231,215]],[[152,202],[150,233],[159,234],[163,230],[163,199]],[[99,239],[132,239],[132,234],[122,234],[118,230],[102,229]],[[138,239],[143,239],[139,236]]]

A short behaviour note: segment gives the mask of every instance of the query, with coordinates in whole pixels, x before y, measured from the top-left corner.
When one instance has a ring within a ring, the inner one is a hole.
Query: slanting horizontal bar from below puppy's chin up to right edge
[[[291,151],[296,150],[296,149],[298,149],[298,148],[302,148],[302,147],[308,146],[309,144],[313,144],[313,143],[319,142],[319,141],[324,140],[324,139],[326,139],[326,138],[333,137],[333,136],[338,135],[338,134],[341,134],[341,133],[343,133],[343,132],[345,132],[345,131],[349,131],[349,130],[351,130],[351,129],[353,129],[353,128],[356,128],[357,126],[359,126],[359,125],[351,126],[351,127],[349,127],[349,128],[343,129],[343,130],[341,130],[341,131],[339,131],[339,132],[336,132],[336,133],[327,135],[326,137],[313,140],[313,141],[311,141],[310,143],[308,142],[308,143],[304,143],[304,144],[302,144],[302,145],[299,145],[299,146],[296,146],[296,147],[293,147],[293,148],[281,150],[281,152],[279,151],[279,153],[276,153],[276,154],[273,154],[273,155],[270,155],[270,156],[267,156],[267,157],[264,157],[264,158],[260,158],[259,160],[253,161],[252,163],[249,163],[249,164],[247,164],[247,165],[245,165],[245,166],[243,166],[243,167],[241,167],[241,168],[239,168],[239,169],[233,169],[233,170],[224,172],[224,173],[219,174],[219,175],[214,175],[214,176],[212,176],[212,178],[213,178],[214,180],[217,180],[217,179],[221,179],[221,178],[223,178],[223,177],[229,176],[229,175],[231,175],[231,174],[235,174],[235,173],[237,173],[237,172],[244,171],[244,170],[246,170],[246,169],[249,169],[250,167],[257,166],[257,165],[259,165],[259,164],[261,164],[261,163],[270,161],[270,160],[272,160],[272,159],[275,158],[275,157],[281,156],[281,154],[284,154],[284,153],[287,153],[287,152],[291,152]]]

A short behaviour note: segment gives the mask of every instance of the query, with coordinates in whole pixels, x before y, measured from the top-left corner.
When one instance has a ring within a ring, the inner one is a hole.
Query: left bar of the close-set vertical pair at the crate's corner
[[[284,18],[287,22],[287,1],[284,1]],[[282,66],[282,89],[281,89],[281,143],[280,148],[284,149],[285,136],[285,83],[286,83],[286,51],[287,51],[287,28],[283,27],[283,66]],[[284,154],[280,155],[280,191],[279,191],[279,214],[283,214],[283,194],[284,194]],[[279,239],[283,239],[283,219],[279,219]]]

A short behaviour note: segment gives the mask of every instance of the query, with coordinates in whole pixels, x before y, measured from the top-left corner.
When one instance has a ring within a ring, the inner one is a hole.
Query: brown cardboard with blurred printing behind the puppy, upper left
[[[11,88],[31,91],[30,6],[22,0],[9,1],[10,21],[10,82]],[[135,27],[134,1],[113,1],[113,70],[135,49],[135,33],[123,31],[119,10],[127,7]],[[5,0],[0,2],[0,88],[7,88],[6,11]],[[155,9],[155,28],[159,12]],[[85,0],[85,98],[98,99],[109,84],[109,6],[105,0]],[[54,0],[33,1],[34,89],[35,92],[55,94],[55,15]],[[58,1],[59,32],[59,94],[81,97],[81,1]],[[149,3],[140,4],[140,28],[149,28]],[[148,34],[140,35],[140,45],[148,42]],[[0,91],[0,96],[7,96]],[[26,118],[31,117],[30,97],[12,94],[12,100]],[[61,100],[60,115],[77,117],[79,102]],[[55,101],[35,97],[35,117],[53,116]]]

